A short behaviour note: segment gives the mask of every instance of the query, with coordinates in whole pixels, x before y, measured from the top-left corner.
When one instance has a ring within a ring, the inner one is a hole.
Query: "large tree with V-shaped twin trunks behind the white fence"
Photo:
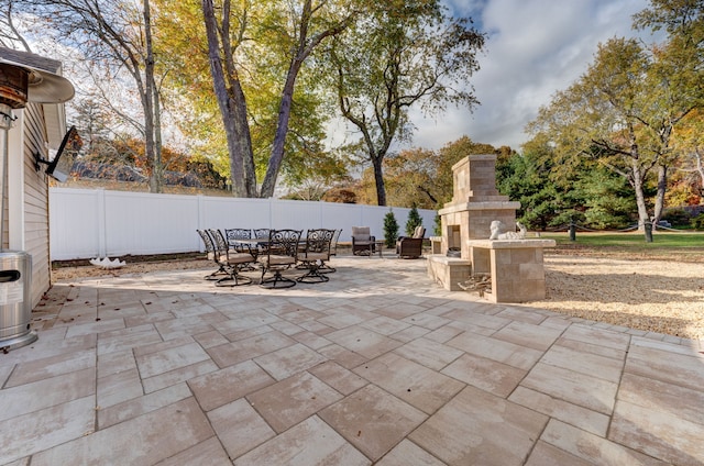
[[[285,56],[288,63],[286,71],[282,75],[283,85],[276,111],[275,134],[266,174],[258,193],[266,198],[274,195],[284,160],[296,80],[304,64],[323,41],[341,33],[359,12],[355,2],[352,1],[315,3],[312,0],[302,0],[294,8],[282,3],[275,0],[256,4],[242,2],[241,10],[234,15],[238,20],[237,29],[231,31],[230,21],[233,16],[230,0],[222,1],[222,16],[219,21],[215,14],[212,0],[202,0],[216,96],[220,103],[223,122],[226,125],[230,124],[226,134],[233,165],[233,185],[241,182],[241,178],[244,178],[246,189],[238,189],[238,191],[246,192],[248,196],[253,196],[254,154],[246,121],[246,98],[240,84],[241,70],[245,69],[245,66],[235,60],[235,53],[238,53],[238,47],[241,47],[243,42],[250,37],[249,34],[256,35],[251,32],[254,25],[253,21],[250,21],[250,14],[253,11],[254,14],[258,14],[260,21],[255,25],[268,35],[268,41],[276,41],[271,49],[261,47],[258,51],[263,56],[277,52],[285,54],[277,55],[277,57]],[[231,35],[234,41],[231,40]],[[234,119],[237,123],[230,123],[234,113],[237,113]],[[240,160],[243,163],[242,175],[240,175]]]

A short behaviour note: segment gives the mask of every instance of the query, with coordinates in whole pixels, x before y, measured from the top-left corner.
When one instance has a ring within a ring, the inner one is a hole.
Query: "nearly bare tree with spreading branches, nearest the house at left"
[[[22,12],[43,20],[31,22],[30,34],[36,37],[52,35],[57,43],[82,53],[82,63],[92,74],[96,88],[113,110],[119,111],[112,106],[113,99],[105,86],[114,87],[116,82],[122,82],[125,73],[131,77],[142,107],[142,121],[125,111],[121,114],[144,136],[151,171],[150,190],[161,192],[161,98],[154,75],[156,62],[150,0],[143,0],[141,10],[135,3],[103,0],[24,0],[11,3]]]

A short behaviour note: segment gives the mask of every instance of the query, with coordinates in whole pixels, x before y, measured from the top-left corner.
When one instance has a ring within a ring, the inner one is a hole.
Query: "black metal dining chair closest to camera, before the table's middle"
[[[294,267],[298,262],[298,243],[302,230],[271,230],[268,233],[267,248],[260,257],[262,264],[262,280],[264,288],[290,288],[296,280],[284,277],[282,271]],[[264,276],[273,274],[268,278]]]

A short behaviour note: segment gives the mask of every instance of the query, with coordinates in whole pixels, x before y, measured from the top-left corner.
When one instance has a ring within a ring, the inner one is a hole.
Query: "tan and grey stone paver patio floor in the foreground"
[[[702,342],[446,291],[425,259],[331,264],[56,284],[0,354],[0,464],[704,464]]]

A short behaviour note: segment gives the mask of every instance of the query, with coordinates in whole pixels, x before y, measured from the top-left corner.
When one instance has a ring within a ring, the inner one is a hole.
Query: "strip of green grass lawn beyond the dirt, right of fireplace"
[[[578,232],[576,241],[565,233],[541,233],[540,237],[556,240],[557,254],[614,256],[618,258],[648,258],[656,260],[697,262],[704,259],[704,232],[675,233],[656,231],[652,243],[646,243],[639,232],[585,233]],[[547,249],[546,252],[550,252]]]

